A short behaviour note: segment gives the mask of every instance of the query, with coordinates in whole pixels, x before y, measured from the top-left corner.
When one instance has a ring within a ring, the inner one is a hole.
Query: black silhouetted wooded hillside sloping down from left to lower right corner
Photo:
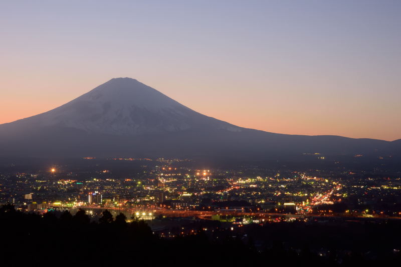
[[[283,224],[284,225],[284,224]],[[7,204],[0,208],[1,247],[4,266],[355,266],[366,263],[399,263],[399,256],[367,260],[358,251],[338,258],[336,248],[325,256],[313,252],[311,244],[288,247],[291,237],[290,224],[266,231],[283,231],[285,241],[279,240],[279,232],[267,233],[268,246],[255,244],[260,229],[248,229],[249,235],[227,232],[210,235],[199,230],[196,234],[173,239],[159,238],[143,220],[119,214],[114,219],[107,210],[98,222],[91,222],[84,210],[75,215],[68,211],[61,214],[47,212],[43,216],[15,210]],[[297,225],[293,225],[297,229]],[[323,231],[324,229],[322,229]],[[294,235],[297,236],[297,235]],[[298,235],[296,238],[300,238]]]

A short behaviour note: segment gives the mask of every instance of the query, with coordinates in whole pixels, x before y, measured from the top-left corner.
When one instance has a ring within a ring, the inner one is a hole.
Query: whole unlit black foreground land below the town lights
[[[253,224],[243,232],[221,227],[214,233],[200,221],[192,234],[160,238],[144,221],[127,223],[122,214],[113,219],[105,211],[91,222],[83,210],[41,216],[4,205],[0,226],[4,266],[394,266],[401,260],[398,221]],[[255,243],[255,236],[265,241]]]

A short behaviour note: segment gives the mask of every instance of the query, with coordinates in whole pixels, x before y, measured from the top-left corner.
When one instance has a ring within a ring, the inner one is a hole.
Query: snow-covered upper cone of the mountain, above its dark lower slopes
[[[137,135],[199,127],[241,131],[240,127],[197,113],[131,78],[114,78],[56,109],[26,118],[38,126],[88,133]]]

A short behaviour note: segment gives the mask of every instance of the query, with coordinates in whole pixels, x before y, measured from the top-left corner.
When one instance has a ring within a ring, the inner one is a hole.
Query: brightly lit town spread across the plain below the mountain
[[[316,217],[401,217],[400,177],[360,178],[352,172],[199,168],[190,160],[85,158],[138,163],[126,175],[95,170],[2,173],[1,202],[27,212],[85,209],[94,220],[104,210],[146,220],[170,217],[246,223],[313,220]],[[104,164],[108,165],[108,164]]]

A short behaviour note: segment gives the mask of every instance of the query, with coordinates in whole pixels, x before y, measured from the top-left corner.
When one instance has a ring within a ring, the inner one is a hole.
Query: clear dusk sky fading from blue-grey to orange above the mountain
[[[401,138],[401,1],[1,1],[0,123],[135,78],[287,134]]]

